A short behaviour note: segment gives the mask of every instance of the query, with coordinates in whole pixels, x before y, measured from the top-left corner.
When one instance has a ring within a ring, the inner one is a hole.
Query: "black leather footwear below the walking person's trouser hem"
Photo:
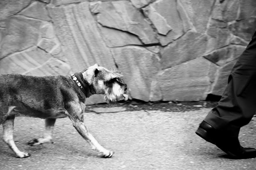
[[[195,133],[226,152],[232,159],[256,158],[255,148],[243,148],[237,137],[230,137],[217,131],[205,121],[200,124]]]

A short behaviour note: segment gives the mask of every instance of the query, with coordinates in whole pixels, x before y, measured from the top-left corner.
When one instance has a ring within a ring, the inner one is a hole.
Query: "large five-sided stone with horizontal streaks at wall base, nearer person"
[[[210,92],[218,66],[203,57],[164,70],[159,85],[164,101],[200,101]]]

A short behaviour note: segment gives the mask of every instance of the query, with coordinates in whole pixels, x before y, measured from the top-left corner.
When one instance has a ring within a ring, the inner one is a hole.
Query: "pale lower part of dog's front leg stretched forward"
[[[114,154],[113,151],[105,149],[96,141],[96,139],[89,132],[89,129],[84,124],[83,118],[80,120],[74,120],[71,118],[71,121],[73,122],[73,126],[75,129],[77,129],[78,133],[92,146],[92,149],[98,151],[102,157],[110,158]]]

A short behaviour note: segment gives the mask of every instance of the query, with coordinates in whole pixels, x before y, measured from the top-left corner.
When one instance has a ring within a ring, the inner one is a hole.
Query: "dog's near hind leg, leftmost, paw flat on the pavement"
[[[13,141],[13,127],[15,115],[7,117],[3,122],[3,141],[15,152],[18,158],[26,158],[30,156],[29,153],[21,152]]]

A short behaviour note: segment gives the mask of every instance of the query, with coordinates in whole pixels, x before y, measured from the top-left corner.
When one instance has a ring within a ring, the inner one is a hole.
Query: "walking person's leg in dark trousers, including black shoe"
[[[238,58],[218,105],[200,124],[196,134],[234,158],[255,158],[254,148],[240,146],[240,128],[256,111],[256,32]]]

